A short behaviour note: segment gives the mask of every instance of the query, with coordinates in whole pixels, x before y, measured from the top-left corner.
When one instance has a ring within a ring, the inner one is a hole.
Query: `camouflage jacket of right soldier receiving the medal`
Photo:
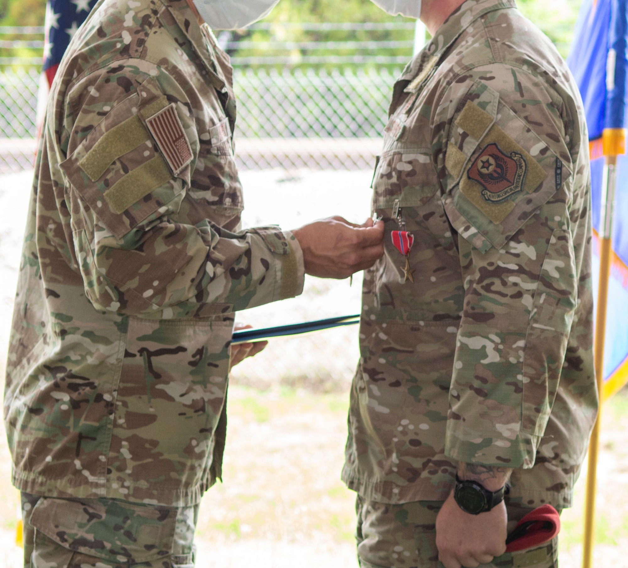
[[[515,468],[525,506],[570,505],[598,404],[588,139],[514,0],[468,0],[409,63],[372,188],[386,253],[365,272],[345,482],[443,500],[463,461]]]

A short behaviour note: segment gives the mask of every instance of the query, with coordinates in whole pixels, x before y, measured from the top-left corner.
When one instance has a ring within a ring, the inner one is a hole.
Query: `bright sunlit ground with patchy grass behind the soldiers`
[[[32,172],[0,177],[0,353],[13,308]],[[244,172],[247,226],[296,227],[329,214],[369,214],[371,172]],[[276,325],[359,312],[359,278],[308,278],[303,296],[246,310],[242,322]],[[324,364],[321,363],[323,361]],[[232,376],[224,484],[205,498],[198,565],[221,568],[356,568],[354,494],[340,483],[347,390],[357,361],[355,328],[278,340]],[[3,364],[0,361],[0,364]],[[605,407],[598,476],[596,566],[628,568],[628,395]],[[0,425],[0,568],[18,568],[18,493]],[[584,476],[563,513],[561,567],[580,566]]]

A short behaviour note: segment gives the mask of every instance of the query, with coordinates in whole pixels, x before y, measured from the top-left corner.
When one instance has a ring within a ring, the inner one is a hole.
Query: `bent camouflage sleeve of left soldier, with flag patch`
[[[301,293],[303,255],[290,232],[237,231],[226,118],[199,135],[183,90],[159,68],[119,65],[70,95],[61,167],[75,258],[96,309],[190,317]]]

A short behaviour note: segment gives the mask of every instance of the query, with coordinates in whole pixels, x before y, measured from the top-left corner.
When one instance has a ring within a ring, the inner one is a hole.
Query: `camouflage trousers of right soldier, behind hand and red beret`
[[[443,568],[436,549],[436,515],[443,501],[387,505],[359,495],[357,554],[361,568]],[[507,505],[508,531],[531,509]],[[541,547],[495,557],[479,568],[558,568],[558,537]]]

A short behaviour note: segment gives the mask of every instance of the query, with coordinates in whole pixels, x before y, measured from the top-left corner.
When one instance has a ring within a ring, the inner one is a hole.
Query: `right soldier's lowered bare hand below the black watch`
[[[436,517],[438,560],[445,568],[475,568],[506,552],[506,504],[469,515],[453,499],[453,491]]]

